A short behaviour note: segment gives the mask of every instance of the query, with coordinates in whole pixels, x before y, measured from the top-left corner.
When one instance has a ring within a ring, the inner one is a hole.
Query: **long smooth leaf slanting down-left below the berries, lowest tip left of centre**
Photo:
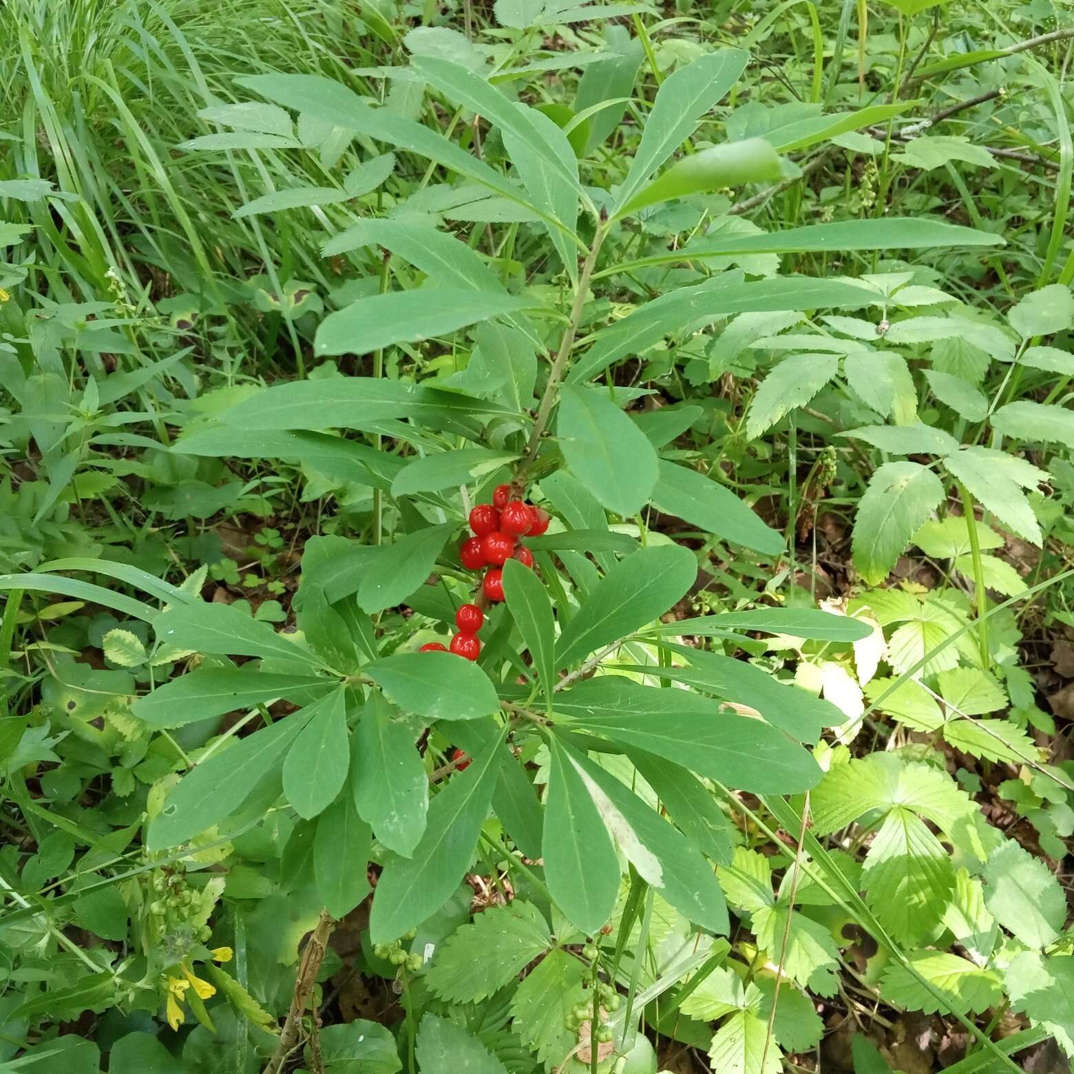
[[[421,657],[435,656],[422,653]],[[465,663],[458,656],[450,659]],[[429,808],[429,824],[410,858],[392,855],[377,884],[369,917],[374,943],[386,943],[439,910],[463,879],[489,812],[503,753],[502,737],[452,775]]]

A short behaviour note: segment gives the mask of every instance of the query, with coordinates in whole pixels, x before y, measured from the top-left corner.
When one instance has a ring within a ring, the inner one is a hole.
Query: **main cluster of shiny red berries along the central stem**
[[[491,504],[478,504],[470,511],[469,523],[474,536],[463,541],[459,557],[470,570],[487,570],[481,591],[490,600],[504,599],[504,564],[512,556],[525,567],[534,565],[533,552],[518,545],[525,534],[539,537],[548,529],[549,517],[539,507],[531,507],[521,499],[511,499],[509,484],[496,485]],[[448,645],[431,641],[419,652],[452,652],[468,661],[476,661],[481,653],[477,632],[484,624],[484,612],[477,605],[463,605],[455,612],[459,633]]]

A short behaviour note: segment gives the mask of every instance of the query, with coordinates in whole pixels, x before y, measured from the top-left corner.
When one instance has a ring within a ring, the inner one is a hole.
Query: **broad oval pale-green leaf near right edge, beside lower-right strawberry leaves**
[[[1031,947],[1059,935],[1066,920],[1066,897],[1048,867],[1013,840],[985,863],[985,905],[1003,928]]]

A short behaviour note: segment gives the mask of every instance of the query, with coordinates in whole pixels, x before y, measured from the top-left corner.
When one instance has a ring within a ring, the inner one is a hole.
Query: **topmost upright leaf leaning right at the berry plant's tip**
[[[645,179],[678,149],[700,122],[701,117],[735,85],[745,69],[749,54],[722,48],[679,68],[659,88],[649,120],[619,188],[612,216],[622,213]]]

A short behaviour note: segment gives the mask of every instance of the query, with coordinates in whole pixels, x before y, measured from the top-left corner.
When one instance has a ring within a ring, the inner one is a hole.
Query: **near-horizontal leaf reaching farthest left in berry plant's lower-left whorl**
[[[251,709],[279,697],[309,699],[335,681],[313,676],[264,674],[241,668],[198,668],[158,686],[132,706],[154,727],[182,727],[198,720]]]

